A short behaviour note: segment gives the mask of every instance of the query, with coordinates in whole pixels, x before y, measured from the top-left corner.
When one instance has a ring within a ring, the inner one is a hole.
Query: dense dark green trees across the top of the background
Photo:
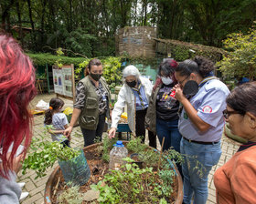
[[[247,32],[256,0],[1,0],[1,28],[30,52],[112,56],[124,26],[155,26],[160,38],[222,46]],[[70,51],[68,51],[70,50]]]

